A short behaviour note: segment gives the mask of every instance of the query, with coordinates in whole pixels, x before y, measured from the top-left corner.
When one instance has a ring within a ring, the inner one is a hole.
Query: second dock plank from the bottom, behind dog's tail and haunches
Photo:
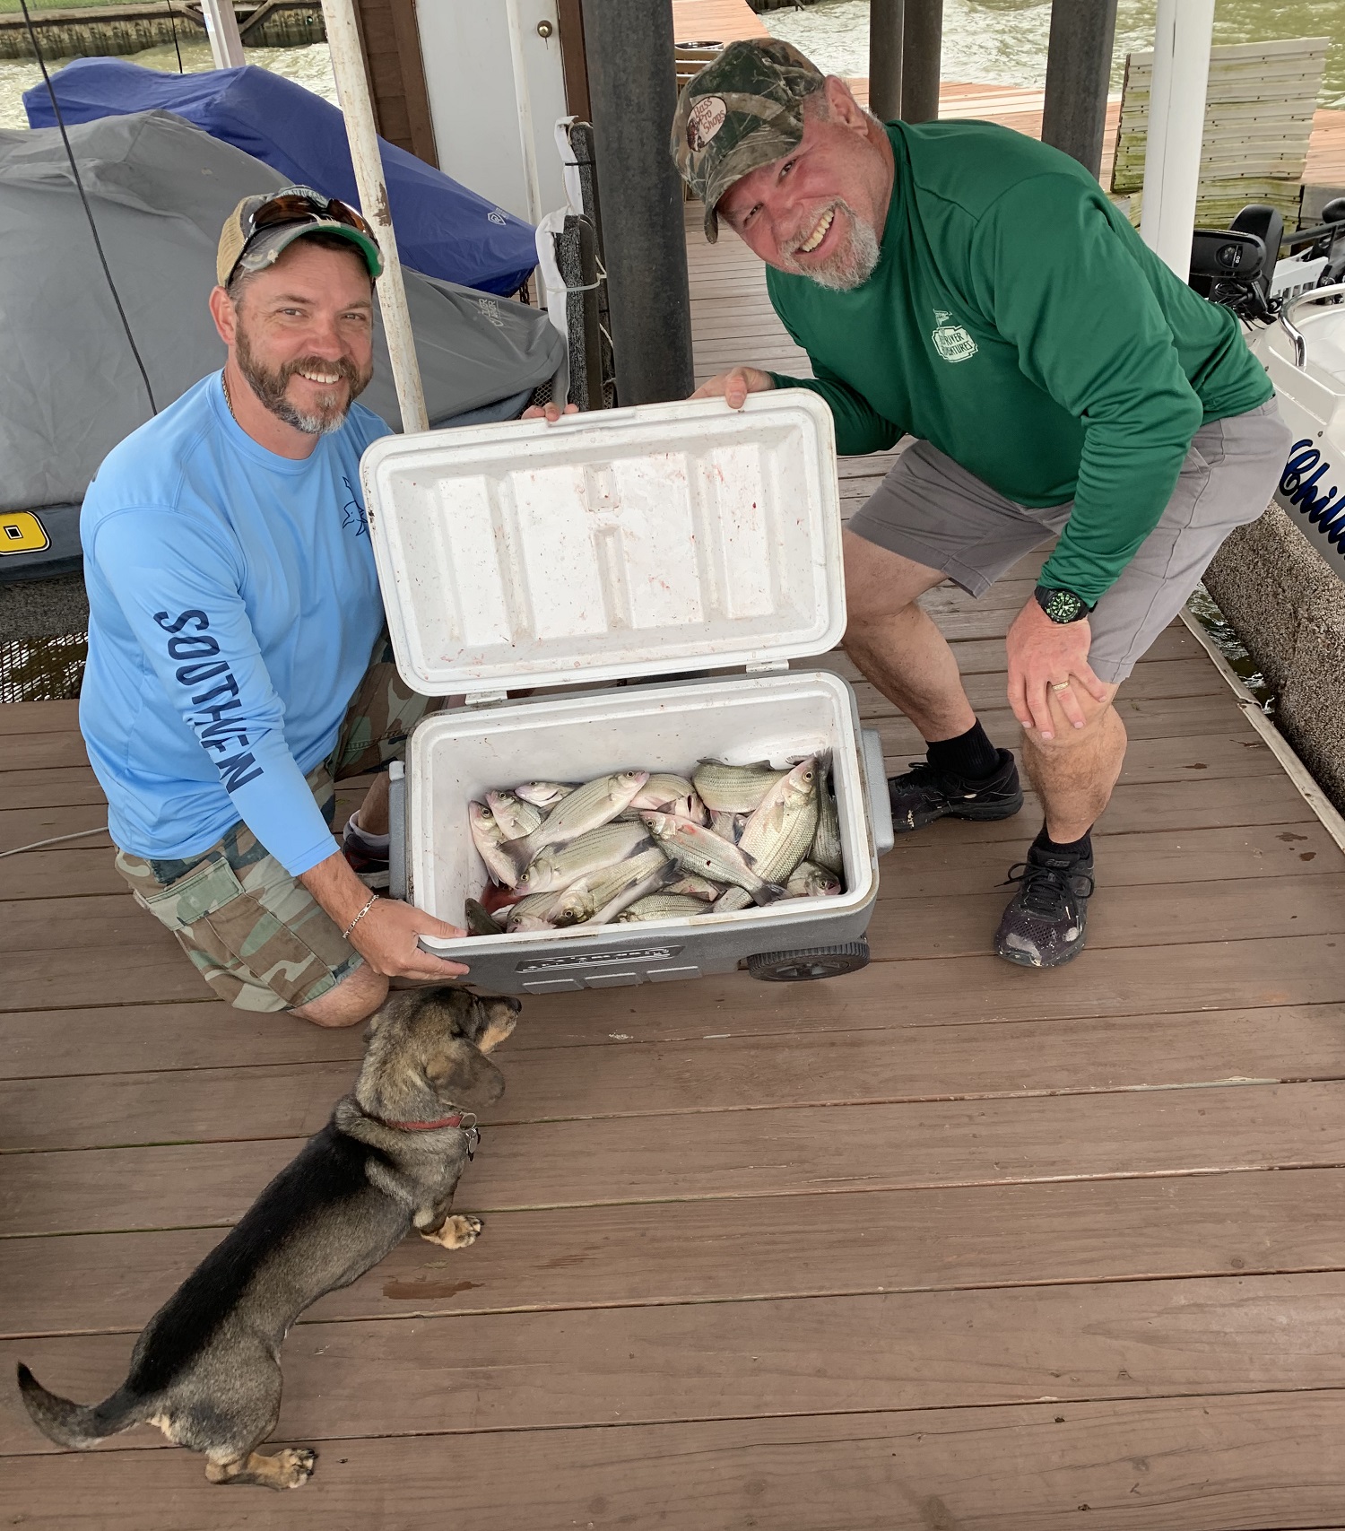
[[[277,1435],[788,1416],[805,1372],[806,1409],[822,1415],[1339,1389],[1342,1309],[1345,1274],[1333,1271],[357,1320],[309,1326],[286,1347]],[[6,1370],[17,1360],[63,1396],[96,1399],[125,1375],[127,1337],[0,1341]],[[116,1442],[167,1448],[148,1425]],[[0,1456],[57,1450],[6,1389]]]

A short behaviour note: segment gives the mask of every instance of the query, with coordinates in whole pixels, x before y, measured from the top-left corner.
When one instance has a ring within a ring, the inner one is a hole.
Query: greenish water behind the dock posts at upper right
[[[1068,0],[1065,0],[1068,3]],[[825,0],[767,11],[762,21],[828,73],[869,72],[869,0]],[[943,78],[1041,89],[1047,81],[1050,0],[944,0]],[[1330,37],[1321,104],[1345,109],[1345,0],[1216,0],[1215,43]],[[1154,46],[1154,0],[1120,0],[1111,89],[1126,54]]]

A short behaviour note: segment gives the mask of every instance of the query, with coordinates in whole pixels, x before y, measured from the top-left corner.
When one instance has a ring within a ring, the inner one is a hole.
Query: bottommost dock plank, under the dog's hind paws
[[[294,1341],[291,1340],[291,1349]],[[479,1531],[1333,1531],[1337,1392],[796,1415],[473,1436]],[[220,1503],[187,1451],[6,1462],[26,1531],[421,1531],[461,1476],[456,1438],[332,1441],[300,1494]],[[477,1487],[479,1485],[479,1487]]]

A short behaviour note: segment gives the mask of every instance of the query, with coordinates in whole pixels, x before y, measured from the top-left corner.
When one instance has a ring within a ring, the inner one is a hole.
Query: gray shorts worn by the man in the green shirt
[[[1088,663],[1117,683],[1186,605],[1220,544],[1270,504],[1290,430],[1275,400],[1201,426],[1158,525],[1089,619]],[[1074,502],[1030,510],[1005,499],[927,441],[901,453],[849,530],[938,570],[969,596],[985,591],[1062,531]]]

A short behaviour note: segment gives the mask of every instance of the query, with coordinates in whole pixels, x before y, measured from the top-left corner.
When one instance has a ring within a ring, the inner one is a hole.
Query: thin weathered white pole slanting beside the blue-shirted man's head
[[[421,369],[416,363],[416,341],[412,335],[412,315],[407,309],[407,289],[401,277],[396,234],[392,230],[392,213],[387,207],[387,184],[383,176],[383,159],[378,153],[378,130],[373,126],[373,104],[369,100],[369,77],[364,73],[364,54],[360,47],[353,0],[323,0],[323,20],[327,28],[327,46],[332,51],[337,96],[341,101],[346,136],[350,141],[355,185],[360,188],[360,211],[373,227],[378,248],[383,251],[378,306],[383,312],[383,331],[387,337],[396,401],[401,407],[401,429],[407,432],[427,430],[430,419],[425,413],[425,393],[421,387]]]

